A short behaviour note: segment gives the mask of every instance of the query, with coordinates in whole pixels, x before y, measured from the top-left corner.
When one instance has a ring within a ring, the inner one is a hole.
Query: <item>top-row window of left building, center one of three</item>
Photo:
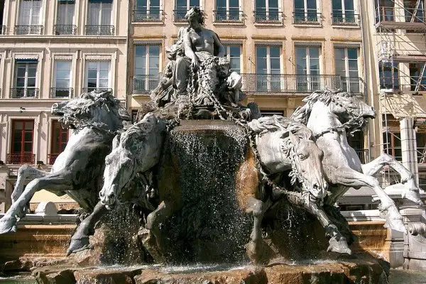
[[[74,0],[58,1],[58,16],[56,18],[55,35],[74,35],[77,27],[74,23]]]

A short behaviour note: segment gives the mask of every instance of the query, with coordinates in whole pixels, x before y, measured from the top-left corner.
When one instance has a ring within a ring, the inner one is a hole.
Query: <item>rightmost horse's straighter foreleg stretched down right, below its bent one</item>
[[[381,204],[378,209],[382,216],[384,215],[384,217],[386,217],[385,227],[390,227],[391,229],[401,231],[403,233],[407,231],[403,222],[403,217],[400,215],[395,202],[393,202],[391,197],[386,195],[386,192],[384,192],[384,190],[380,187],[376,178],[370,175],[364,175],[363,173],[359,173],[356,170],[346,167],[336,169],[336,173],[338,174],[334,175],[333,180],[336,184],[355,188],[362,186],[371,187],[381,200]]]

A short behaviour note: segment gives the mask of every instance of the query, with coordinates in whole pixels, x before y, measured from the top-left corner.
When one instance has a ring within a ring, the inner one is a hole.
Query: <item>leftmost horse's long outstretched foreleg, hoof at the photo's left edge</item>
[[[16,224],[19,219],[26,215],[26,204],[30,202],[35,192],[44,188],[60,191],[72,190],[72,182],[67,170],[60,170],[58,173],[31,180],[22,195],[12,204],[6,214],[4,214],[4,217],[0,219],[0,234],[5,234],[9,231],[16,232]]]

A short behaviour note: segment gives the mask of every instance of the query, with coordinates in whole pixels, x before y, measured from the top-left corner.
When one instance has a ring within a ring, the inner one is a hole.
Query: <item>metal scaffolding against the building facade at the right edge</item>
[[[415,95],[426,94],[424,0],[374,0],[374,2],[383,150],[400,160],[395,154],[395,148],[401,145],[399,131],[395,129],[395,125],[398,124],[396,119],[417,118],[420,113],[421,116],[426,115],[421,107],[415,108],[417,103]],[[390,107],[391,101],[397,103]],[[426,151],[417,150],[417,152],[420,153],[420,155],[417,153],[420,161],[424,161]],[[398,178],[391,170],[385,170],[382,174],[385,186],[397,182]]]

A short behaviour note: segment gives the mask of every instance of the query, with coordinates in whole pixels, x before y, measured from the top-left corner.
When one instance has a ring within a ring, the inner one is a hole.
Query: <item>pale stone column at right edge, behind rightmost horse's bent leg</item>
[[[400,120],[401,151],[403,153],[403,165],[415,175],[417,186],[419,184],[419,170],[417,166],[417,141],[413,118]]]

